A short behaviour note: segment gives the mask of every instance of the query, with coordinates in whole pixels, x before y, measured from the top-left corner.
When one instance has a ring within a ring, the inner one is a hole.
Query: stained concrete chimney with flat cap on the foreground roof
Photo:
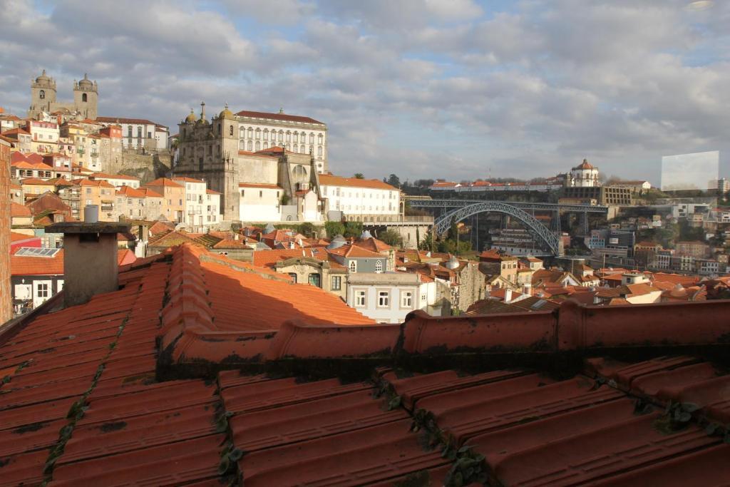
[[[93,210],[84,218],[93,218]],[[116,222],[64,222],[46,227],[64,234],[64,305],[88,302],[96,294],[117,291],[119,264],[117,234],[130,234],[129,225]]]

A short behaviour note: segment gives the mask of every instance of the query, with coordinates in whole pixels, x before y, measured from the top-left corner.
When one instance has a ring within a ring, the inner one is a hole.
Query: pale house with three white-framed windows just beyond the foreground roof
[[[429,286],[432,288],[429,288]],[[436,295],[434,280],[404,272],[356,272],[347,277],[347,305],[378,323],[402,323],[413,310],[425,310]]]

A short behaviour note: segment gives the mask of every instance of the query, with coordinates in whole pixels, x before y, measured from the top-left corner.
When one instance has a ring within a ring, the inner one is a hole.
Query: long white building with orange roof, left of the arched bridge
[[[346,220],[368,221],[400,215],[400,191],[383,181],[332,175],[320,175],[319,181],[328,211],[341,211]]]

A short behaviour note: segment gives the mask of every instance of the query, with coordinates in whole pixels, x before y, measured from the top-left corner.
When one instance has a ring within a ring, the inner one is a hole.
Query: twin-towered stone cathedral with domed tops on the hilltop
[[[28,109],[28,118],[37,119],[42,112],[62,112],[66,118],[77,116],[96,120],[96,105],[99,101],[99,86],[84,74],[84,79],[74,81],[74,101],[56,101],[55,80],[45,73],[31,80],[31,107]]]

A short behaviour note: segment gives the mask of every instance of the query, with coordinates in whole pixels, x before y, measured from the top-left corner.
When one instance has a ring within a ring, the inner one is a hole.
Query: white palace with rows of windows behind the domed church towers
[[[258,152],[269,147],[312,154],[317,172],[327,172],[327,125],[313,118],[279,113],[250,112],[236,114],[239,122],[239,150]]]

